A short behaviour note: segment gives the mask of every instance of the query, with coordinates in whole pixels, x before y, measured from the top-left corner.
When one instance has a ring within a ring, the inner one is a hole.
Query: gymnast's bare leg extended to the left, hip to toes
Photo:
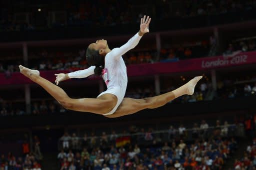
[[[117,103],[117,98],[111,94],[101,95],[99,98],[72,99],[67,96],[63,89],[39,76],[39,71],[19,66],[20,72],[44,88],[65,109],[104,114],[112,110]]]

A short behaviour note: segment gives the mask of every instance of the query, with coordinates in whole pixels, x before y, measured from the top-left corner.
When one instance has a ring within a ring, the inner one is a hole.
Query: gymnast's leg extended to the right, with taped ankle
[[[124,115],[130,115],[143,109],[154,109],[154,108],[165,105],[169,101],[179,96],[192,95],[194,93],[194,87],[196,83],[201,78],[202,76],[194,77],[183,86],[171,92],[164,93],[158,96],[148,97],[143,99],[124,98],[122,100],[122,103],[117,108],[117,110],[112,115],[105,115],[105,117],[116,118]]]

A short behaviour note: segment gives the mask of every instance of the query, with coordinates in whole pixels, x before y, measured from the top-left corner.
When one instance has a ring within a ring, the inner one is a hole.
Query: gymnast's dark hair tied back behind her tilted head
[[[86,50],[86,60],[89,66],[96,66],[94,74],[100,76],[104,68],[104,57],[99,54],[99,51],[88,47]]]

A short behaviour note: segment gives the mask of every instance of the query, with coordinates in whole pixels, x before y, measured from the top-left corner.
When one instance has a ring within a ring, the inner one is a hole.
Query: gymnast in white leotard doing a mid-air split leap
[[[107,41],[104,39],[91,43],[86,50],[86,60],[90,67],[67,74],[55,74],[56,85],[42,78],[38,70],[31,70],[19,65],[20,72],[44,88],[65,109],[95,113],[108,118],[133,114],[143,109],[154,109],[165,105],[179,96],[192,95],[196,83],[202,76],[194,77],[183,86],[158,96],[143,99],[124,98],[127,86],[127,73],[122,55],[134,48],[140,38],[149,32],[150,20],[149,16],[141,18],[140,30],[119,48],[110,50]],[[85,78],[92,74],[101,75],[107,87],[107,90],[99,94],[95,99],[72,99],[57,86],[63,80]]]

